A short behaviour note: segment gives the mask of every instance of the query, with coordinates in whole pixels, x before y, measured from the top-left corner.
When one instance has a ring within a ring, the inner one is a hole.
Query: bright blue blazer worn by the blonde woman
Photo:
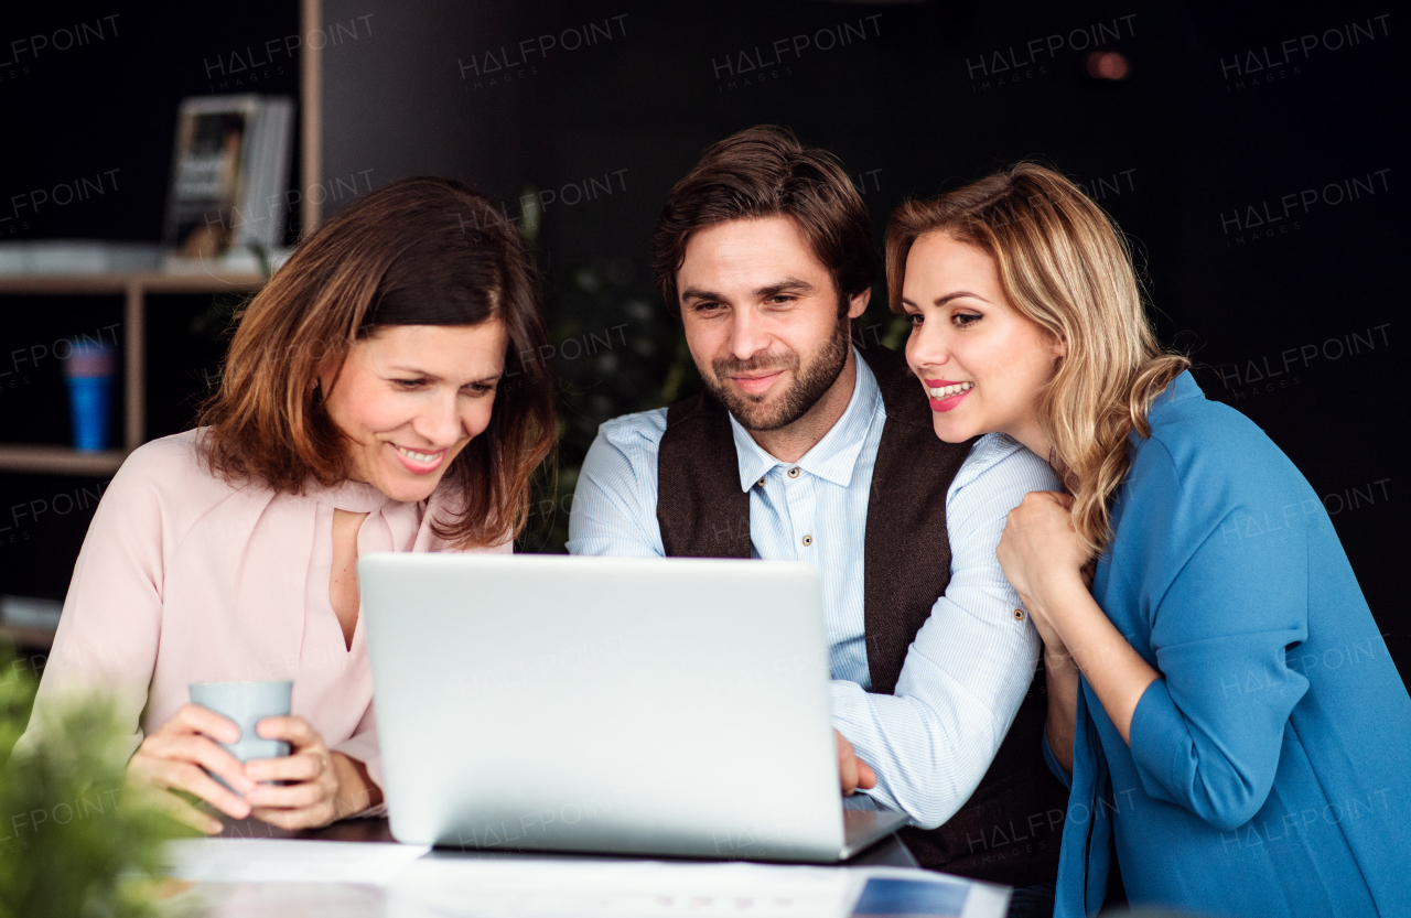
[[[1189,374],[1150,422],[1092,595],[1163,678],[1130,749],[1081,681],[1054,914],[1116,855],[1133,905],[1411,915],[1411,698],[1318,495]]]

